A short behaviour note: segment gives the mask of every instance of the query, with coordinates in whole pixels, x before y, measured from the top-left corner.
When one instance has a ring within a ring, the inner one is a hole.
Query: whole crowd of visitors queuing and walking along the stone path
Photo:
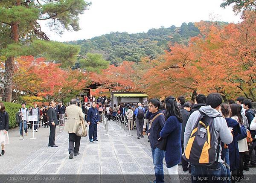
[[[210,180],[212,175],[222,177],[219,182],[236,182],[243,179],[243,171],[256,168],[256,114],[252,110],[250,99],[238,97],[222,104],[219,93],[208,96],[199,94],[195,103],[186,101],[184,96],[167,97],[163,101],[151,99],[149,103],[121,103],[111,107],[106,96],[84,97],[83,105],[72,99],[65,107],[51,101],[49,106],[41,108],[22,107],[16,114],[20,128],[20,137],[28,134],[28,129],[38,131],[41,126],[50,127],[49,146],[55,144],[56,125],[65,126],[69,134],[70,159],[79,155],[81,137],[77,129],[81,120],[89,125],[89,142],[97,142],[97,125],[103,120],[127,122],[130,130],[137,129],[137,139],[146,134],[150,142],[154,163],[155,182],[164,182],[163,159],[172,182],[179,182],[178,165],[183,171],[192,174],[192,182],[198,182],[203,176]],[[38,116],[37,121],[29,116]],[[67,120],[64,120],[64,117]],[[0,142],[3,155],[4,145],[9,143],[9,114],[0,102]],[[202,179],[205,180],[205,179]],[[210,181],[209,181],[210,182]],[[216,181],[215,181],[216,182]]]

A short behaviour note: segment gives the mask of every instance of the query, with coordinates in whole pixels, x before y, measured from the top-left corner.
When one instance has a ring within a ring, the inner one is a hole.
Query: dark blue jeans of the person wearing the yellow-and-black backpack
[[[212,167],[191,164],[192,183],[225,183],[227,182],[227,168],[223,163],[216,163]]]

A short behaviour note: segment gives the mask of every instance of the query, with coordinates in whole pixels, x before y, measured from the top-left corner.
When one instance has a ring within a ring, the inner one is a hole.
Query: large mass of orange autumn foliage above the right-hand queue
[[[256,16],[244,12],[243,21],[218,26],[198,23],[202,35],[188,45],[175,44],[143,76],[149,96],[218,92],[227,101],[239,95],[256,101]]]

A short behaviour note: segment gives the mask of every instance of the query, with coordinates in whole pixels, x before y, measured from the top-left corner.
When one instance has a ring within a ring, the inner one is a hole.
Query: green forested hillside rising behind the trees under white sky
[[[169,44],[175,42],[186,44],[189,38],[197,36],[199,30],[194,23],[182,23],[180,27],[149,29],[148,32],[128,34],[127,32],[111,32],[87,40],[70,41],[69,44],[81,45],[81,55],[88,52],[99,53],[111,64],[118,65],[122,61],[139,62],[142,57],[157,58]],[[79,67],[79,64],[76,64]]]

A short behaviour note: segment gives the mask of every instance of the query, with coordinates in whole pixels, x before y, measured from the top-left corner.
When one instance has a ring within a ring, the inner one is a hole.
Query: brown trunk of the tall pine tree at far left
[[[20,0],[17,0],[16,6],[20,6]],[[11,23],[12,32],[11,38],[14,43],[19,41],[19,22]],[[4,73],[4,91],[3,91],[3,101],[12,102],[12,81],[14,76],[14,57],[10,56],[6,58],[5,61],[5,73]]]

